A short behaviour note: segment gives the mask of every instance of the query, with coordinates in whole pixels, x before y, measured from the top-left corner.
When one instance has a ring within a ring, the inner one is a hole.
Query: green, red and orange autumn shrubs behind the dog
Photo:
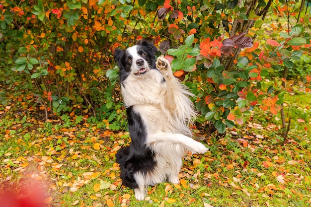
[[[224,133],[255,106],[281,109],[291,86],[282,82],[290,80],[262,82],[310,53],[310,13],[303,9],[272,0],[2,1],[0,54],[5,68],[32,83],[46,118],[90,113],[120,122],[113,51],[149,39],[196,95],[201,130]],[[287,24],[266,21],[272,15]],[[310,81],[310,74],[299,80],[306,92]]]

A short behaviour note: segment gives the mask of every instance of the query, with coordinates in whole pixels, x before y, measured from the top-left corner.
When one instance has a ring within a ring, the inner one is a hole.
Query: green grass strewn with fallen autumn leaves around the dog
[[[13,100],[0,105],[0,193],[35,180],[50,207],[310,207],[311,94],[286,95],[285,103],[285,145],[280,117],[256,109],[224,138],[209,138],[205,155],[186,156],[179,185],[149,187],[138,202],[115,163],[128,133],[75,117],[45,122],[30,102]]]

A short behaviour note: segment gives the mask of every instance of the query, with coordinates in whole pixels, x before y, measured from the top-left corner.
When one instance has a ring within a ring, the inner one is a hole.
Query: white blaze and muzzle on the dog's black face
[[[130,47],[127,49],[127,52],[132,56],[132,66],[131,71],[134,75],[140,75],[141,73],[145,73],[149,71],[148,63],[137,53],[137,45]],[[143,61],[142,65],[139,65],[137,61]]]

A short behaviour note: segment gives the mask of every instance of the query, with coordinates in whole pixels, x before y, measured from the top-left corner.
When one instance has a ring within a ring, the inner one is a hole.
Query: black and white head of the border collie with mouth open
[[[120,79],[128,75],[140,76],[156,69],[156,47],[147,41],[142,41],[126,50],[116,49],[113,56],[120,69]]]

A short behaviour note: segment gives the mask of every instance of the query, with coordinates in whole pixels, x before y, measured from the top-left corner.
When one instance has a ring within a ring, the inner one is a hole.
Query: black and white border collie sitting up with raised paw
[[[173,76],[163,56],[156,61],[156,52],[146,41],[114,52],[132,139],[116,159],[123,184],[134,189],[137,200],[144,199],[148,185],[165,180],[179,183],[186,151],[208,150],[190,138],[189,122],[196,115],[189,99],[192,94]]]

